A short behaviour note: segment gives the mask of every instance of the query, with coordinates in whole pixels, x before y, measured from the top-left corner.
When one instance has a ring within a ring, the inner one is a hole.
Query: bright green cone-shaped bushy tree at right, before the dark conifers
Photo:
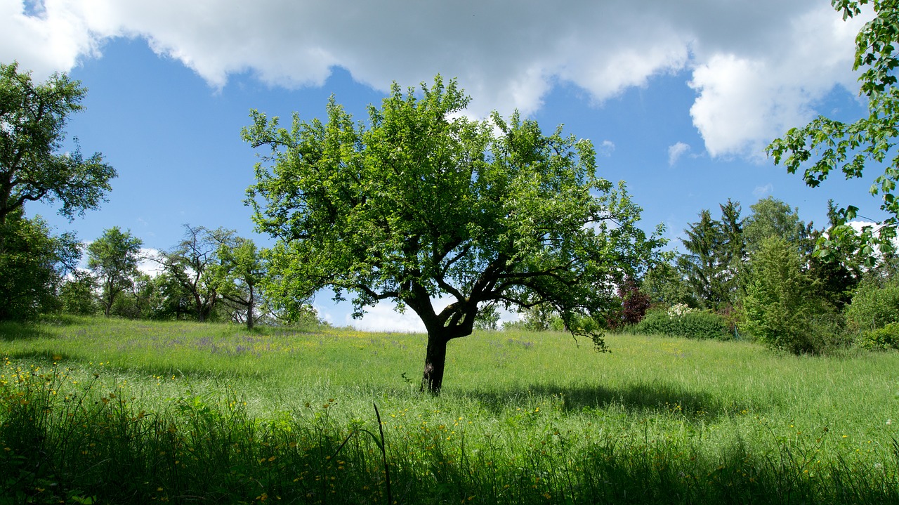
[[[778,236],[752,253],[741,329],[758,341],[794,354],[819,353],[840,341],[834,310],[802,269],[796,248]]]

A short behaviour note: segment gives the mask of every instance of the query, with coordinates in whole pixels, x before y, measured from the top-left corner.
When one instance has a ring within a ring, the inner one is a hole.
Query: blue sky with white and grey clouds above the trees
[[[830,0],[0,0],[0,61],[88,89],[67,146],[77,137],[116,168],[109,201],[72,222],[26,208],[85,242],[120,226],[165,250],[190,224],[271,244],[243,204],[249,111],[323,118],[334,95],[365,120],[391,83],[441,74],[472,117],[518,110],[591,139],[598,175],[627,182],[645,230],[663,224],[674,247],[727,199],[744,216],[781,199],[819,226],[828,199],[883,218],[874,175],[810,189],[764,152],[816,115],[866,111],[851,69],[863,22]],[[423,330],[387,303],[354,321],[329,298],[315,306],[336,325]]]

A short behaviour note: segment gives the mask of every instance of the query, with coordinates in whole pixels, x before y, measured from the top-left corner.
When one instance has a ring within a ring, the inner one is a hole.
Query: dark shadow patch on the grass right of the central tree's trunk
[[[623,387],[531,384],[455,394],[474,399],[491,412],[501,412],[535,397],[546,397],[561,403],[566,412],[608,411],[610,407],[619,406],[628,412],[674,413],[692,421],[726,417],[750,407],[749,401],[746,405],[725,404],[715,394],[685,390],[663,382]],[[753,408],[757,409],[758,405]]]

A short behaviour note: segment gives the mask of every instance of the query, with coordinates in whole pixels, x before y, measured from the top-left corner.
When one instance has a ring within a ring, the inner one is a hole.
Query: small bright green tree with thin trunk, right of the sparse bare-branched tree
[[[218,294],[245,314],[246,329],[252,330],[267,266],[252,240],[236,237],[231,242],[218,246],[219,264],[214,271]]]

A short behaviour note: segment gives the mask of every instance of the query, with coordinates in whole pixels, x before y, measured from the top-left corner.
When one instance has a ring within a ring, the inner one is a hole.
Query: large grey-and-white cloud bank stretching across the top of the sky
[[[321,85],[335,66],[379,90],[456,76],[475,115],[537,111],[560,83],[600,103],[687,70],[709,155],[752,156],[853,85],[859,22],[821,0],[0,0],[0,61],[45,76],[128,37],[213,87],[245,72]]]

